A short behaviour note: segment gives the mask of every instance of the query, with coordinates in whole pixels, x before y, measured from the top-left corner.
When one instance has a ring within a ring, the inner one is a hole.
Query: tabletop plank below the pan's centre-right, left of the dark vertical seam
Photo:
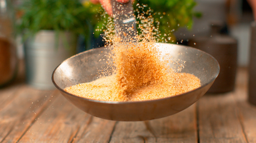
[[[111,143],[197,142],[196,106],[162,119],[117,122]]]

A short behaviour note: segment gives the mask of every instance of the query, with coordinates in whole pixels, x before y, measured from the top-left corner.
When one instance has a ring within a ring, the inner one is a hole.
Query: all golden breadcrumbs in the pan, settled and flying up
[[[182,94],[201,86],[200,79],[189,73],[172,70],[168,59],[161,59],[156,46],[159,31],[152,17],[140,15],[140,35],[122,40],[113,36],[113,27],[105,31],[111,48],[113,74],[64,90],[87,99],[101,101],[145,101]],[[110,23],[110,22],[108,22]],[[111,63],[107,61],[106,64]],[[182,66],[181,66],[182,67]],[[104,70],[102,70],[104,71]]]

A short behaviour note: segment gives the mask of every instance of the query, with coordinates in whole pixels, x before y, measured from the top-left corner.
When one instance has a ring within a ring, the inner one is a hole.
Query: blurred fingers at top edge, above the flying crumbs
[[[104,8],[104,10],[109,14],[109,15],[113,15],[113,11],[112,11],[112,7],[111,7],[111,0],[91,0],[92,3],[96,4],[96,3],[100,3],[102,8]],[[130,0],[116,0],[119,3],[127,3]],[[134,0],[131,0],[131,2],[133,3]]]

